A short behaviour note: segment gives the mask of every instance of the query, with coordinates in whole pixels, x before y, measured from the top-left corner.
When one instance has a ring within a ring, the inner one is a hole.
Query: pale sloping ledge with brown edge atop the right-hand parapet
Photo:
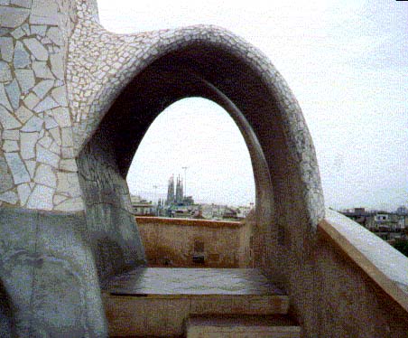
[[[318,231],[362,268],[385,293],[408,312],[408,258],[385,240],[336,211],[326,211]]]

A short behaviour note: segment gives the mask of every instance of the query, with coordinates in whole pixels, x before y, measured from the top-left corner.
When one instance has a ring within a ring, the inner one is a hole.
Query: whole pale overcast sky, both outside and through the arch
[[[381,1],[99,0],[101,23],[136,33],[217,24],[263,51],[289,83],[311,131],[326,205],[408,205],[408,4]],[[246,145],[227,113],[204,99],[166,109],[139,147],[131,192],[165,195],[187,169],[199,202],[255,200]],[[153,185],[157,185],[154,194]],[[164,194],[163,194],[164,193]]]

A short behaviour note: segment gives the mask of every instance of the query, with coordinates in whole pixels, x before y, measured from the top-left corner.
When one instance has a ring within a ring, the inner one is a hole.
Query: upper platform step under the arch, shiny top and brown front
[[[284,315],[289,299],[254,269],[141,268],[103,299],[111,336],[180,336],[191,315]]]

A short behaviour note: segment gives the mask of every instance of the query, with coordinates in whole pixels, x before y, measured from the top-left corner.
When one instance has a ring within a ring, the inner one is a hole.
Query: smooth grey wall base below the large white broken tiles
[[[13,322],[10,336],[107,336],[85,227],[82,214],[0,208],[0,309],[12,301],[19,309],[1,313]]]

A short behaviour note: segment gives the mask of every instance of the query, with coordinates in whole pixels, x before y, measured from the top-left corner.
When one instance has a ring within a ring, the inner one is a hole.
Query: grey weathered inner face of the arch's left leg
[[[78,158],[88,240],[101,280],[145,262],[127,183],[107,134],[105,128],[98,130]]]

